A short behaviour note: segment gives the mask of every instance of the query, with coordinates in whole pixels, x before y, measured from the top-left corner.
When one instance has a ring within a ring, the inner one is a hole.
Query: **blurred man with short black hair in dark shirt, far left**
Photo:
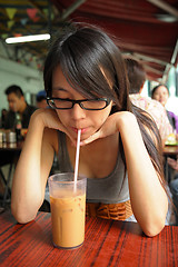
[[[16,113],[19,113],[21,118],[22,128],[27,129],[30,117],[36,110],[36,107],[26,102],[23,92],[19,86],[10,86],[4,92],[9,102],[9,111],[4,121],[4,129],[16,128]]]

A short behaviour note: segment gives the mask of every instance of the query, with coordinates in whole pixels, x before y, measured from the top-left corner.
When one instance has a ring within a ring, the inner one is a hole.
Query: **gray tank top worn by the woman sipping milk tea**
[[[73,171],[67,150],[66,135],[59,131],[59,171]],[[81,174],[80,174],[81,175]],[[87,201],[117,204],[129,200],[128,176],[118,152],[117,164],[112,172],[103,178],[87,178]]]

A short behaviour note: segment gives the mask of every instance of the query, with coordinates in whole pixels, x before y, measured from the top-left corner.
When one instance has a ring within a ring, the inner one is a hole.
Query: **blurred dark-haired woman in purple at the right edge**
[[[151,90],[151,98],[159,101],[164,106],[164,108],[166,109],[166,103],[167,103],[168,98],[169,98],[168,88],[165,85],[156,86]],[[169,110],[166,110],[166,111],[167,111],[167,116],[169,118],[169,121],[170,121],[172,128],[178,134],[178,116],[175,115],[172,111],[169,111]]]

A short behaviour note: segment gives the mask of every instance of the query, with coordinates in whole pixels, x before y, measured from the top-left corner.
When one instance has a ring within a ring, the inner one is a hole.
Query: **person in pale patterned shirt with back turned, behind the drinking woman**
[[[159,129],[162,145],[165,145],[167,137],[172,132],[166,110],[158,101],[140,95],[146,81],[144,67],[131,58],[126,58],[125,62],[130,82],[130,100],[135,106],[146,110],[154,118]]]

